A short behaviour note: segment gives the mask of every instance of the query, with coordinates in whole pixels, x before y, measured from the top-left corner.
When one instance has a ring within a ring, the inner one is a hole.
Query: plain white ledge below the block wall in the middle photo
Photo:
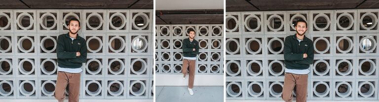
[[[156,86],[188,86],[189,74],[155,74]],[[224,75],[195,74],[193,86],[224,86]]]

